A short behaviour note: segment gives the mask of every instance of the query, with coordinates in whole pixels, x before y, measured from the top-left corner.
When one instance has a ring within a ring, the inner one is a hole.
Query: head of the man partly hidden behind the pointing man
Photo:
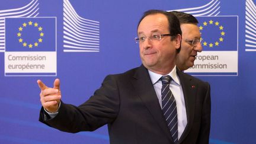
[[[180,71],[194,66],[194,60],[196,60],[197,52],[202,51],[201,46],[201,34],[197,24],[197,19],[191,15],[179,11],[169,12],[174,14],[180,21],[180,27],[182,31],[181,49],[176,57],[176,65]]]

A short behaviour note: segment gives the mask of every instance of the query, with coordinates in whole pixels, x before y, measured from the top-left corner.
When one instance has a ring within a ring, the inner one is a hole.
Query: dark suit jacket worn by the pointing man
[[[179,143],[209,143],[210,86],[178,71],[184,92],[187,126]],[[110,143],[173,143],[148,70],[108,75],[84,104],[61,102],[53,119],[41,109],[40,121],[65,132],[92,131],[108,124]]]

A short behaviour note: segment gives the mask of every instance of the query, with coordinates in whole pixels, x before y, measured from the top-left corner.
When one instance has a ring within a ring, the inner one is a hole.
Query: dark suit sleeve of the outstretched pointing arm
[[[59,113],[53,119],[41,108],[39,121],[63,132],[93,131],[104,124],[112,123],[119,113],[119,89],[115,76],[108,75],[94,95],[84,104],[62,102]]]

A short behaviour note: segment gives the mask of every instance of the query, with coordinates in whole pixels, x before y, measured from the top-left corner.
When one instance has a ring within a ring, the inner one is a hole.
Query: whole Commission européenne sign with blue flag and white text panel
[[[5,76],[56,76],[56,18],[5,18]]]

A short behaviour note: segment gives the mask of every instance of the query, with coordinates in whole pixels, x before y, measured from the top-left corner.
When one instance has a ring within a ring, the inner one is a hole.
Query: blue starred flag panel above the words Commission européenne
[[[6,52],[56,51],[56,19],[6,18]]]

